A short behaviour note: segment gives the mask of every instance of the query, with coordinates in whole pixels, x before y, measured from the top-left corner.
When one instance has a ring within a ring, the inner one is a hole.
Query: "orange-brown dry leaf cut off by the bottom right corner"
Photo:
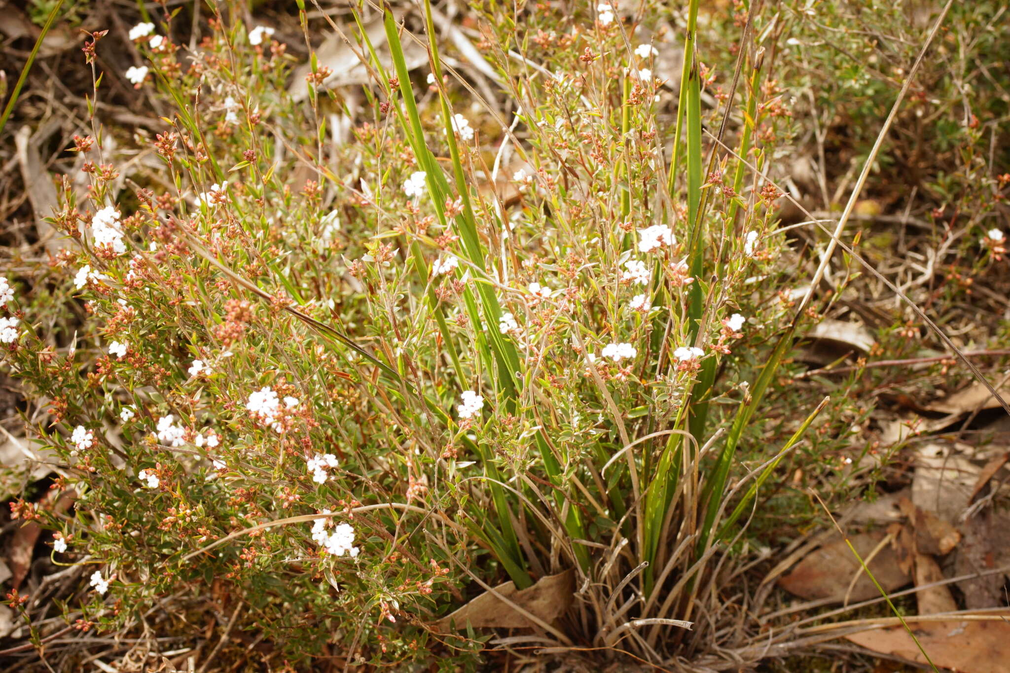
[[[1010,614],[1010,612],[1008,612]],[[1010,662],[1008,622],[912,622],[912,633],[933,663],[961,673],[1006,673]],[[904,627],[845,637],[868,650],[928,665]]]

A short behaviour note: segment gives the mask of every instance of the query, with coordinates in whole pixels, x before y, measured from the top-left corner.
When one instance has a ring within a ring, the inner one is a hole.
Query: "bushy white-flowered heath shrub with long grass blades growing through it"
[[[820,410],[821,468],[868,412],[778,377],[850,278],[808,292],[778,228],[798,121],[772,52],[799,5],[475,3],[466,57],[427,2],[349,5],[350,93],[314,51],[292,84],[302,36],[224,2],[192,49],[168,10],[128,28],[121,77],[170,112],[127,144],[159,163],[94,115],[67,247],[0,283],[5,366],[77,495],[15,503],[88,568],[68,616],[112,630],[213,586],[294,666],[454,665],[489,636],[439,618],[572,570],[570,610],[515,643],[741,645],[719,587],[758,486]]]

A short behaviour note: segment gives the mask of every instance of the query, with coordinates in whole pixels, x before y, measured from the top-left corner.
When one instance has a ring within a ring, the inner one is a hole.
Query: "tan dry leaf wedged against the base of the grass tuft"
[[[530,614],[550,623],[564,614],[572,604],[575,597],[575,570],[569,569],[557,575],[541,577],[535,584],[521,591],[516,590],[512,582],[505,582],[494,588]],[[528,629],[536,626],[490,591],[438,620],[434,626],[435,629],[446,630],[450,628],[450,623],[454,624],[456,629],[466,629],[468,624],[474,629]]]

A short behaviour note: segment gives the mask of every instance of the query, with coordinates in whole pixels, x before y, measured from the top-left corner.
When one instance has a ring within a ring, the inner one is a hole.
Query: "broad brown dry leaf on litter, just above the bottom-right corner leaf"
[[[862,533],[849,538],[860,557],[866,560],[886,537],[885,533]],[[879,551],[869,564],[870,572],[884,587],[893,591],[909,582],[909,576],[898,565],[891,545]],[[873,580],[862,571],[858,559],[840,536],[828,540],[796,564],[793,571],[779,580],[779,586],[808,600],[829,599],[841,602],[848,592],[852,577],[860,578],[848,593],[850,601],[866,600],[880,595]]]

